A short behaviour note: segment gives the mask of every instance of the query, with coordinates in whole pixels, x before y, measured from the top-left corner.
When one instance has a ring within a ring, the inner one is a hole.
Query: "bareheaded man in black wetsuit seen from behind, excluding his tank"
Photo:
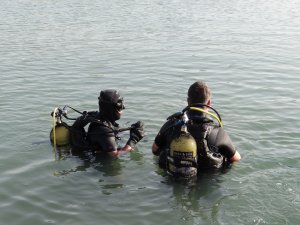
[[[225,162],[233,162],[241,159],[239,152],[234,147],[229,135],[220,125],[213,123],[208,110],[211,108],[211,93],[208,86],[198,81],[192,84],[188,90],[188,107],[186,115],[187,132],[195,139],[197,146],[197,158],[194,160],[201,168],[220,168]],[[161,127],[152,145],[152,153],[159,156],[159,165],[166,168],[170,159],[170,144],[181,132],[178,126],[178,113],[170,116]],[[187,151],[184,152],[185,155]],[[173,159],[172,159],[173,160]],[[174,160],[175,161],[175,160]],[[178,161],[178,160],[177,160]],[[183,159],[184,161],[184,159]],[[179,165],[183,167],[186,165]]]

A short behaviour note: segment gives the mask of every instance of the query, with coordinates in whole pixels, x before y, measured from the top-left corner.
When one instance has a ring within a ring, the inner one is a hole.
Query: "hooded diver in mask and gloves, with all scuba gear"
[[[54,147],[71,145],[72,152],[81,155],[92,153],[96,156],[109,155],[118,157],[122,153],[130,152],[135,145],[144,137],[144,124],[138,121],[127,128],[120,128],[116,123],[121,118],[125,109],[123,98],[114,89],[100,92],[98,97],[98,111],[80,112],[70,106],[63,109],[55,108],[51,113],[53,128],[50,132],[50,140]],[[69,118],[67,108],[80,113],[78,118]],[[75,120],[69,126],[62,121],[62,117]],[[55,121],[56,120],[56,121]],[[86,132],[85,127],[88,126]],[[118,146],[120,132],[130,130],[130,136],[124,147]]]

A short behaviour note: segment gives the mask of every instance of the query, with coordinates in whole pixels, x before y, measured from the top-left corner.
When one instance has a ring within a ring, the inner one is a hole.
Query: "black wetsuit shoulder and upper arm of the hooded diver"
[[[118,124],[98,118],[92,122],[87,132],[87,142],[96,153],[112,152],[117,150]]]

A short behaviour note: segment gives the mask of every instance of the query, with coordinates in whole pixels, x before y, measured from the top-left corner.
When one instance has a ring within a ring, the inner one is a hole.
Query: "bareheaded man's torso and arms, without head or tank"
[[[219,168],[226,162],[231,162],[237,151],[224,129],[201,112],[190,111],[188,114],[190,120],[187,131],[196,141],[198,169]],[[181,126],[177,123],[176,118],[170,118],[155,137],[153,154],[160,156],[161,167],[167,160],[167,151],[171,148],[172,141],[181,133]]]

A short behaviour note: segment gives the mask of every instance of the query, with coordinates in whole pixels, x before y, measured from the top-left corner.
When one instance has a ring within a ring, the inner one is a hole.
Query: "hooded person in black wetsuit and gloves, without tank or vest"
[[[144,137],[144,124],[138,121],[132,124],[130,137],[126,145],[118,147],[117,134],[119,125],[116,123],[121,118],[125,109],[123,98],[113,89],[103,90],[99,96],[99,113],[89,125],[87,142],[95,153],[107,153],[117,157],[122,153],[130,152]]]

